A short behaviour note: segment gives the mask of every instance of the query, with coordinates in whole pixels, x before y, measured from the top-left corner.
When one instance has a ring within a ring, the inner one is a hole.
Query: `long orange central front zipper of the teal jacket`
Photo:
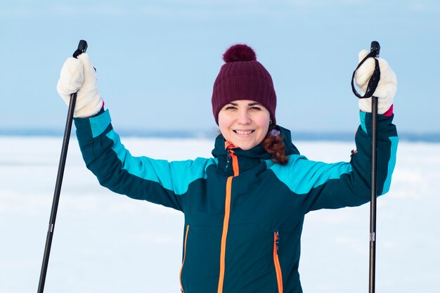
[[[223,219],[223,232],[221,233],[221,248],[220,248],[220,273],[219,273],[219,287],[217,293],[223,293],[223,283],[225,276],[225,258],[226,258],[226,237],[228,235],[229,216],[231,214],[231,192],[232,192],[232,178],[238,176],[238,159],[234,155],[232,144],[226,144],[228,154],[232,159],[232,167],[234,171],[233,176],[229,176],[226,181],[226,199],[225,199],[225,216]]]

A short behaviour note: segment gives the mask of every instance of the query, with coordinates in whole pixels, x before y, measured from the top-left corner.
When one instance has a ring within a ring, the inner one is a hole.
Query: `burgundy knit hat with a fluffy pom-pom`
[[[223,54],[221,66],[212,91],[212,112],[219,124],[221,108],[233,100],[255,100],[269,111],[272,124],[276,124],[276,93],[271,74],[257,61],[250,46],[237,44]]]

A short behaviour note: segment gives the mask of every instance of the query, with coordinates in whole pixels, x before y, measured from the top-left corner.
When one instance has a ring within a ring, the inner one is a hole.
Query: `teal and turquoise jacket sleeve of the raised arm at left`
[[[82,157],[99,183],[137,200],[183,211],[181,195],[190,184],[206,177],[211,159],[167,162],[134,157],[112,128],[108,110],[91,118],[75,118]]]

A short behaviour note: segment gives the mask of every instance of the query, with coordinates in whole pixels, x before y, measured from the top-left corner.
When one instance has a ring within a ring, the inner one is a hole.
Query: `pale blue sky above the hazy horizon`
[[[439,16],[435,0],[1,1],[0,129],[64,128],[56,82],[86,39],[116,129],[215,129],[221,54],[246,43],[273,77],[278,124],[355,131],[351,74],[377,40],[399,130],[440,131]]]

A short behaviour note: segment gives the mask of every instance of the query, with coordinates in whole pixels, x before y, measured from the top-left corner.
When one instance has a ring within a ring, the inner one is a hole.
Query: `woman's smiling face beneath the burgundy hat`
[[[219,126],[226,141],[250,150],[266,137],[271,115],[254,100],[234,100],[219,112]]]

